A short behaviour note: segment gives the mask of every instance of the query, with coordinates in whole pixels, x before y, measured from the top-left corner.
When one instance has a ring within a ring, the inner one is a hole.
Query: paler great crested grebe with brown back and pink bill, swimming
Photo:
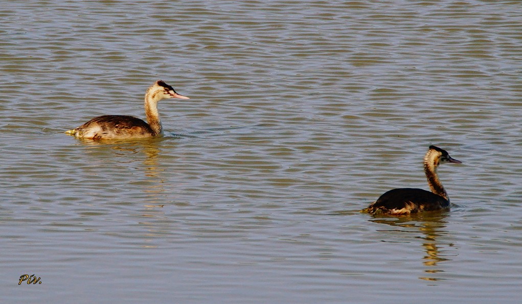
[[[189,99],[180,95],[162,80],[156,81],[145,93],[145,115],[148,124],[134,116],[103,115],[65,133],[86,139],[139,139],[158,136],[162,133],[158,102],[162,99]]]

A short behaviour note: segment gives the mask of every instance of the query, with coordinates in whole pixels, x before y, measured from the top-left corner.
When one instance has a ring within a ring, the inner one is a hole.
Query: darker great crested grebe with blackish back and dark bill
[[[462,162],[452,159],[445,150],[430,145],[424,156],[424,173],[428,178],[430,191],[416,188],[389,190],[377,201],[361,210],[371,214],[409,215],[421,211],[435,211],[449,208],[449,197],[438,179],[437,167],[440,164]]]

